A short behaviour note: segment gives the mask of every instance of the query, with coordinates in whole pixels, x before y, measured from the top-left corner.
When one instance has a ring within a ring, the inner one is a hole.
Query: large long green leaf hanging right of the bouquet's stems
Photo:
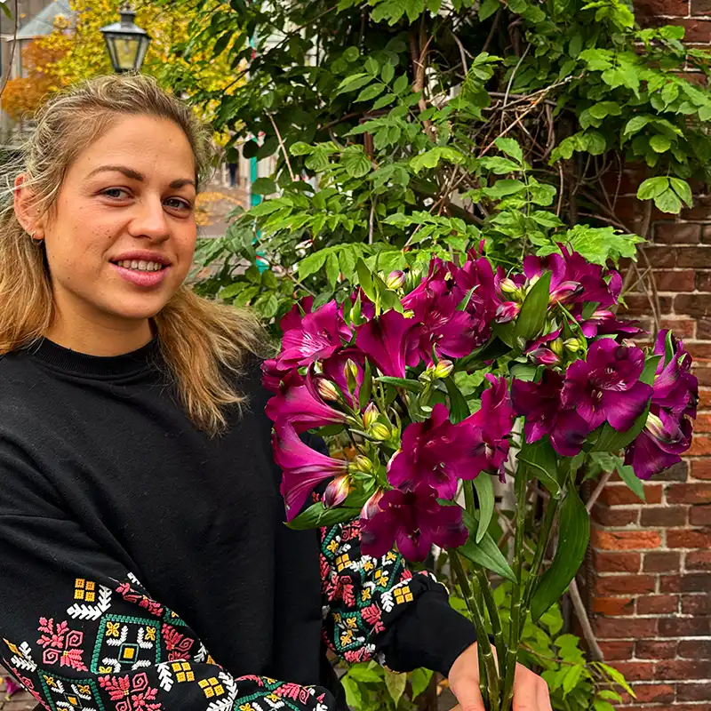
[[[590,539],[590,517],[574,486],[561,506],[558,547],[550,568],[535,587],[531,600],[534,621],[563,595],[578,572]]]

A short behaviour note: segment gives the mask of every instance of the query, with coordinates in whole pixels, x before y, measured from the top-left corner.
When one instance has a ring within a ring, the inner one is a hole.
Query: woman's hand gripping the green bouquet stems
[[[478,646],[474,643],[451,665],[450,689],[459,701],[452,711],[486,711],[479,691],[478,653]],[[516,665],[514,711],[552,711],[547,683],[521,664]]]

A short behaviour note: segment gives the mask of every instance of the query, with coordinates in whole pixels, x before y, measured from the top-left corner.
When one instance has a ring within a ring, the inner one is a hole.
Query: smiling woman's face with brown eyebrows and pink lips
[[[195,159],[177,124],[122,116],[68,168],[44,237],[57,314],[130,330],[188,276]]]

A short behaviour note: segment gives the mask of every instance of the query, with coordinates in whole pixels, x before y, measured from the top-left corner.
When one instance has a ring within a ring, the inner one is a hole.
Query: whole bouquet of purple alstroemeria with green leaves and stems
[[[643,332],[614,315],[619,273],[559,250],[525,258],[521,274],[475,251],[464,263],[433,258],[425,276],[379,276],[361,261],[344,303],[308,298],[284,316],[264,367],[291,525],[359,519],[363,554],[376,558],[394,546],[412,561],[445,549],[477,627],[491,711],[510,708],[525,620],[582,563],[588,458],[623,454],[620,474],[648,479],[679,461],[696,415],[683,344],[659,332],[647,351],[635,345]],[[339,456],[317,451],[308,432],[340,443]],[[493,477],[513,479],[511,564],[489,533]],[[527,555],[531,486],[545,487],[547,505]],[[506,630],[487,571],[511,581]]]

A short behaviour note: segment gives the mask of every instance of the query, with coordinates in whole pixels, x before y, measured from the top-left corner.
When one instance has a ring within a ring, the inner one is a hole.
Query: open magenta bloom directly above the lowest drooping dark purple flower
[[[387,480],[393,486],[411,491],[424,483],[441,499],[454,497],[457,477],[467,471],[467,443],[449,417],[447,408],[437,403],[428,419],[405,427],[402,448],[387,467]]]

